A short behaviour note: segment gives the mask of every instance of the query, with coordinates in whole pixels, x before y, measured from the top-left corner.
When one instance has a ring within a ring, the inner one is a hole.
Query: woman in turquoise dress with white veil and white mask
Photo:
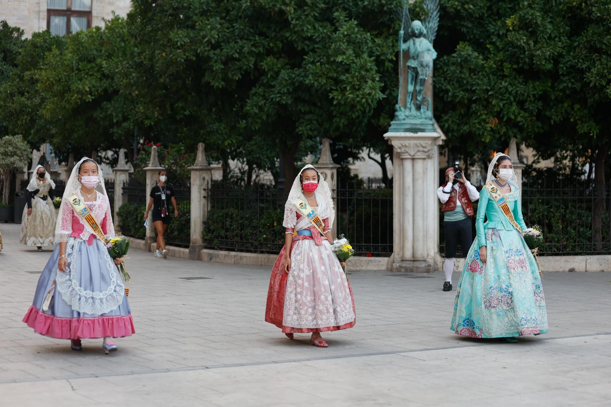
[[[498,153],[480,192],[477,238],[456,290],[450,329],[461,336],[518,342],[518,336],[547,332],[541,277],[522,237],[527,228],[511,180],[516,180],[511,159]]]

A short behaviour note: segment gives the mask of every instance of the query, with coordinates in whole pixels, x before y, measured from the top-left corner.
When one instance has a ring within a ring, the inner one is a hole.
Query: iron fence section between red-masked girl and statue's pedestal
[[[354,182],[343,183],[335,191],[335,202],[337,235],[343,234],[350,241],[356,255],[392,254],[392,189],[365,189]]]

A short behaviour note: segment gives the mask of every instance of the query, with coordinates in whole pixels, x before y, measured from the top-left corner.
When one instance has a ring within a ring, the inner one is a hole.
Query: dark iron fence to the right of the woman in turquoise
[[[527,183],[522,188],[522,213],[527,226],[543,230],[541,254],[611,254],[611,182],[607,185],[599,239],[595,233],[595,189],[587,180]]]

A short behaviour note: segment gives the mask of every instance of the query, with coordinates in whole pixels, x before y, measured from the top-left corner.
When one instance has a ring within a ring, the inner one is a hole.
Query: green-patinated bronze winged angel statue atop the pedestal
[[[400,103],[401,86],[403,85],[403,68],[399,70],[399,100],[395,106],[395,120],[407,121],[409,119],[433,119],[431,100],[424,96],[424,84],[430,71],[433,69],[433,60],[437,53],[433,48],[433,41],[437,35],[439,25],[439,0],[425,0],[425,9],[428,15],[425,20],[411,21],[408,10],[408,0],[405,0],[403,9],[399,10],[401,31],[399,32],[399,49],[409,52],[407,102],[406,108]],[[404,28],[408,29],[408,40],[403,42]],[[403,52],[400,55],[400,66],[403,67]],[[415,96],[414,96],[415,91]]]

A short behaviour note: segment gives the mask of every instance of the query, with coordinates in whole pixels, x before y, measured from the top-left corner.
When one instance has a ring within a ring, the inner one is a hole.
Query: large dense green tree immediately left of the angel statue
[[[269,154],[249,153],[279,149],[291,180],[304,139],[363,133],[384,97],[379,69],[392,69],[399,3],[134,1],[143,98],[223,162],[262,165]]]

